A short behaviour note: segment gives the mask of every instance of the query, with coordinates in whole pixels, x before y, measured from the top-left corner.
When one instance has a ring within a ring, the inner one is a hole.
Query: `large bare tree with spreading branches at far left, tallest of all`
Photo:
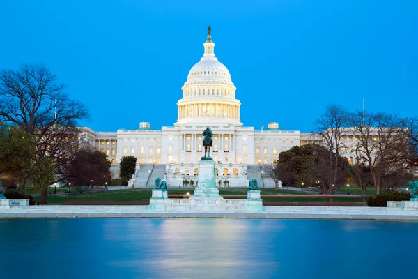
[[[64,89],[42,65],[0,73],[0,121],[36,137],[36,160],[54,160],[56,181],[63,180],[63,165],[78,144],[78,122],[88,119],[86,107],[70,100]]]

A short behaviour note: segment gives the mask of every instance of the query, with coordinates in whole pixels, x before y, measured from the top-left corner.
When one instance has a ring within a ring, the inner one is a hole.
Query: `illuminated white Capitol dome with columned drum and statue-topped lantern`
[[[215,57],[215,43],[210,31],[203,44],[205,52],[187,75],[178,100],[175,126],[242,126],[240,101],[235,99],[235,86],[229,70]]]

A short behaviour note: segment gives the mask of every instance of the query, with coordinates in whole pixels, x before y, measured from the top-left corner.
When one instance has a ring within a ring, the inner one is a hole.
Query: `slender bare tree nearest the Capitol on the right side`
[[[341,150],[345,148],[343,135],[348,131],[347,115],[348,112],[344,107],[330,105],[325,110],[325,113],[316,119],[316,132],[314,135],[318,135],[323,140],[325,147],[330,151],[330,179],[327,179],[330,185],[326,187],[330,189],[331,194],[335,193],[339,171],[339,157],[341,156]],[[332,160],[334,154],[336,155],[336,159]]]

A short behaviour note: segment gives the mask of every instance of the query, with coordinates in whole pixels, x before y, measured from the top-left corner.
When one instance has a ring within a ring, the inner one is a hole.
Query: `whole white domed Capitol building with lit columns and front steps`
[[[156,177],[165,177],[169,186],[185,186],[183,181],[196,182],[199,160],[204,153],[202,132],[210,126],[213,132],[210,156],[217,162],[220,187],[244,187],[248,178],[261,180],[261,187],[274,187],[271,179],[261,178],[260,165],[275,163],[280,152],[293,146],[320,143],[310,138],[309,133],[282,130],[277,122],[268,123],[263,130],[243,126],[241,103],[235,98],[236,87],[229,70],[215,56],[210,28],[203,47],[203,57],[189,71],[182,87],[174,126],[155,130],[149,122],[141,122],[135,130],[87,129],[95,148],[111,160],[114,177],[118,177],[121,158],[134,156],[137,172],[131,183],[135,187],[150,187]]]

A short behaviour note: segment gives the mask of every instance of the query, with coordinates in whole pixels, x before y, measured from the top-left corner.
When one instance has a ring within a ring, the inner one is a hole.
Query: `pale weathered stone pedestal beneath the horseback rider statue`
[[[214,160],[202,159],[199,161],[197,187],[190,199],[224,199],[219,195],[219,189],[216,186],[214,165]]]

